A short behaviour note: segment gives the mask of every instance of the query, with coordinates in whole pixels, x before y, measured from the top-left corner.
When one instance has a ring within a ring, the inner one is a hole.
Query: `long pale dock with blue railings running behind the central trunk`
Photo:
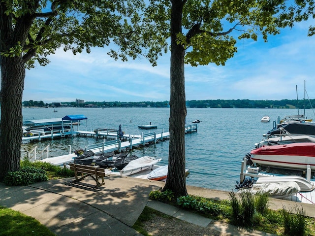
[[[193,131],[197,131],[197,125],[189,125],[186,131],[185,127],[185,133],[189,134]],[[122,149],[132,149],[134,146],[145,146],[149,144],[156,144],[158,141],[163,141],[165,139],[169,138],[169,132],[164,132],[160,134],[156,133],[150,133],[141,135],[126,135],[127,141],[121,141],[120,139],[115,139],[112,141],[103,141],[102,143],[95,143],[92,145],[88,145],[85,147],[85,151],[93,151],[96,155],[105,153],[105,152],[112,152],[112,151],[119,151],[121,152]],[[42,162],[49,162],[55,166],[62,166],[63,164],[69,164],[74,161],[74,158],[77,156],[74,153],[58,156],[58,157],[52,157],[52,158],[46,158],[41,160]]]

